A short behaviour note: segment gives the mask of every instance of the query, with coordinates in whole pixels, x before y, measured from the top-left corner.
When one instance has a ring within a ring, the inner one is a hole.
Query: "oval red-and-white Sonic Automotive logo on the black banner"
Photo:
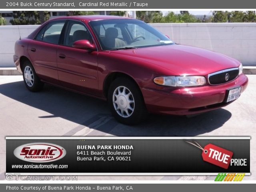
[[[46,163],[63,158],[66,150],[51,143],[29,143],[17,147],[14,155],[24,161]]]

